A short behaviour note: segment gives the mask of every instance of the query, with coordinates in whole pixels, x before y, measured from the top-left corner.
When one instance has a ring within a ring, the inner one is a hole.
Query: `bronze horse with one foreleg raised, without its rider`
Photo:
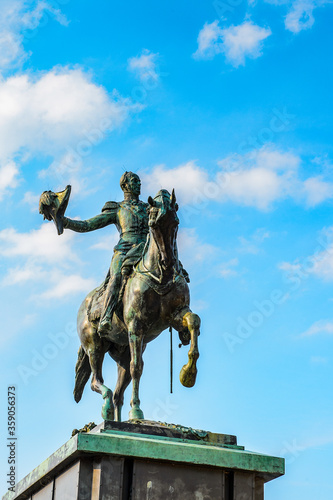
[[[178,331],[184,345],[191,341],[188,363],[180,372],[185,387],[195,384],[199,357],[200,318],[190,307],[188,284],[181,272],[177,253],[178,205],[164,189],[154,199],[149,197],[149,235],[141,260],[128,278],[122,308],[113,315],[112,326],[105,336],[98,334],[98,323],[89,320],[89,306],[96,295],[90,292],[78,312],[78,334],[81,347],[76,363],[74,398],[79,402],[92,373],[91,388],[105,400],[102,417],[121,420],[126,387],[132,380],[130,419],[143,419],[140,408],[139,383],[143,369],[142,354],[146,344],[163,330]],[[114,393],[104,385],[102,364],[105,353],[118,364],[118,380]]]

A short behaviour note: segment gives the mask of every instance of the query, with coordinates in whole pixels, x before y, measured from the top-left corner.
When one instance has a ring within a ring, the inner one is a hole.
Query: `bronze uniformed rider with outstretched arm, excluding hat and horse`
[[[108,201],[102,213],[85,221],[77,221],[63,217],[64,227],[85,233],[94,231],[109,224],[115,224],[120,233],[120,240],[114,253],[107,276],[107,287],[99,324],[99,333],[103,335],[110,327],[114,309],[122,285],[122,264],[129,251],[140,258],[148,234],[148,204],[139,200],[141,181],[137,174],[125,172],[120,179],[120,187],[124,192],[124,201],[118,203]]]

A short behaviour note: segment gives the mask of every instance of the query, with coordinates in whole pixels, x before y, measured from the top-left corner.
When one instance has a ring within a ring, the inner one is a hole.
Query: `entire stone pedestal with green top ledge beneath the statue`
[[[235,436],[153,422],[104,422],[79,432],[3,500],[263,500],[282,458]]]

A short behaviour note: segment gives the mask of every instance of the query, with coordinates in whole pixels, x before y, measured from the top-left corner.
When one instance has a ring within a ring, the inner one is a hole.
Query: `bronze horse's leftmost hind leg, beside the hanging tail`
[[[105,348],[104,341],[100,338],[97,331],[94,332],[93,342],[87,351],[89,362],[92,371],[91,389],[102,395],[105,400],[102,406],[102,417],[104,420],[114,419],[114,408],[112,402],[112,391],[106,385],[102,376],[102,365],[104,355],[107,348]]]

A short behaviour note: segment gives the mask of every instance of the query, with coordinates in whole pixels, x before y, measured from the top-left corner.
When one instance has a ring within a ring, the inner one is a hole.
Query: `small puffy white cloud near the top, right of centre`
[[[211,59],[224,53],[233,66],[245,64],[245,58],[256,59],[262,55],[262,42],[271,35],[270,28],[262,28],[244,21],[238,26],[221,28],[216,20],[205,23],[198,35],[198,49],[193,54],[196,59]]]

